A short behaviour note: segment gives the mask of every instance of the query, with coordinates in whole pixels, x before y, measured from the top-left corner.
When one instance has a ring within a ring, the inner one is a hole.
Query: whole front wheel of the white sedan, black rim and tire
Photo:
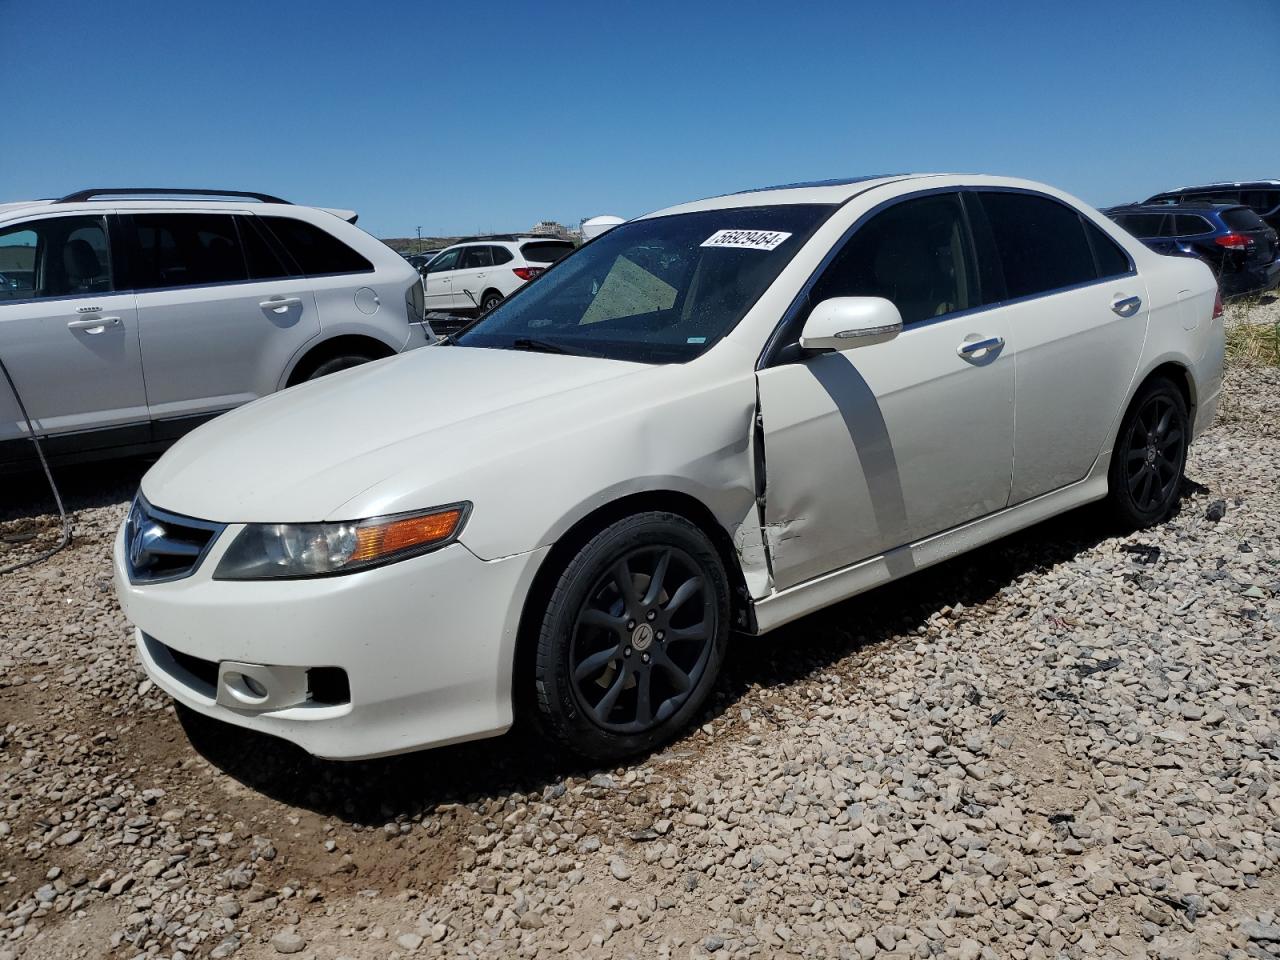
[[[650,750],[707,701],[728,630],[728,579],[707,535],[675,513],[620,520],[577,552],[547,603],[538,717],[591,760]]]

